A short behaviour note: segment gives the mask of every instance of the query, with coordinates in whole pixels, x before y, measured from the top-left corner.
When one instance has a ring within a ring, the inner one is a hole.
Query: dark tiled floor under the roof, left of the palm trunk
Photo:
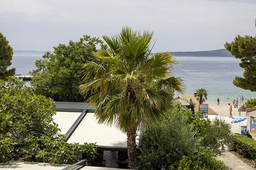
[[[107,168],[117,168],[118,167],[117,151],[104,151],[103,159],[106,160]]]

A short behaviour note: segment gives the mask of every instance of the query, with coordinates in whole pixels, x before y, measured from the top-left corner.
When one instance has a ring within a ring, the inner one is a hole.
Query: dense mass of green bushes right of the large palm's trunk
[[[221,152],[221,146],[229,145],[231,131],[223,120],[200,120],[199,114],[176,104],[168,117],[157,125],[145,121],[141,137],[141,154],[132,163],[132,169],[154,170],[165,165],[170,170],[217,170],[225,168],[215,156]]]

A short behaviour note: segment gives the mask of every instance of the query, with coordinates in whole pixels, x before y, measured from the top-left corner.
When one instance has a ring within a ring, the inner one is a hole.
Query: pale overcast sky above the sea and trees
[[[255,18],[256,0],[0,1],[0,32],[14,50],[52,51],[128,25],[154,31],[154,52],[208,51],[238,34],[255,36]]]

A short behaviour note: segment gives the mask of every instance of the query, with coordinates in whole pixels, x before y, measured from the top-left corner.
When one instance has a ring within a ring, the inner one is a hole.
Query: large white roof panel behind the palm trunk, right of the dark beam
[[[127,147],[127,136],[115,126],[97,124],[94,113],[87,113],[67,143],[97,143],[102,147]],[[139,141],[137,140],[137,145]]]

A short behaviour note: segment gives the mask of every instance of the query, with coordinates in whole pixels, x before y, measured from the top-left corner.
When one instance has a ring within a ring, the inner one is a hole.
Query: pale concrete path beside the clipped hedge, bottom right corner
[[[222,156],[217,156],[217,159],[224,161],[226,170],[255,170],[229,151],[225,151],[222,154]]]

